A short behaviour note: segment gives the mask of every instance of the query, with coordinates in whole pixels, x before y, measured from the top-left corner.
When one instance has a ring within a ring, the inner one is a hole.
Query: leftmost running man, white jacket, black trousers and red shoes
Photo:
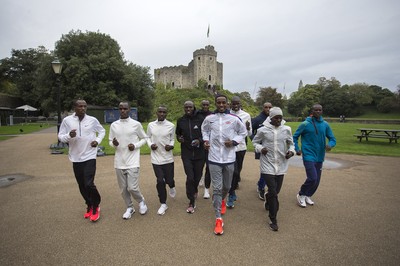
[[[97,145],[101,143],[106,130],[99,121],[86,114],[85,100],[76,100],[75,113],[63,119],[58,139],[68,143],[68,157],[72,162],[79,191],[85,199],[85,219],[96,222],[100,218],[100,193],[94,184],[96,173]]]

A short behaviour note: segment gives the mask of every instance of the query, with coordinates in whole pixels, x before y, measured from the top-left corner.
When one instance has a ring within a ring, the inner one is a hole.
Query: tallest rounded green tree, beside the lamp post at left
[[[71,31],[56,42],[55,54],[63,63],[64,109],[78,97],[93,105],[116,104],[125,64],[115,40],[98,32]]]

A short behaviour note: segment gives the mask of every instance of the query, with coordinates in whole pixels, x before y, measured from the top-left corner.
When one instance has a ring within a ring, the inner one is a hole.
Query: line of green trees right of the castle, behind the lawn
[[[274,106],[287,107],[292,116],[305,117],[315,103],[324,107],[324,114],[328,116],[347,117],[362,115],[365,107],[373,107],[377,112],[388,113],[400,110],[400,85],[397,91],[366,83],[341,85],[340,81],[332,77],[319,78],[316,84],[299,83],[298,90],[290,95],[289,99],[277,92],[277,89],[266,87],[258,91],[256,105],[271,102]]]

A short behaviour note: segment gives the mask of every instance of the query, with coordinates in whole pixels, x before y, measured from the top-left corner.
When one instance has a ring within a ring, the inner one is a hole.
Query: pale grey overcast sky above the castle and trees
[[[396,91],[399,0],[0,0],[0,59],[11,49],[54,50],[71,30],[116,40],[125,59],[155,68],[187,65],[213,45],[224,88],[271,86],[290,95],[299,81],[336,77]],[[210,35],[207,38],[207,28]]]

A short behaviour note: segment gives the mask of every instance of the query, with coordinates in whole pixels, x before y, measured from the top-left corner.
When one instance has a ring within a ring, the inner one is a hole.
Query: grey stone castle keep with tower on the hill
[[[212,45],[194,51],[188,66],[154,69],[155,83],[172,88],[194,88],[199,80],[206,81],[208,88],[222,86],[222,77],[222,63],[217,61],[217,52]]]

